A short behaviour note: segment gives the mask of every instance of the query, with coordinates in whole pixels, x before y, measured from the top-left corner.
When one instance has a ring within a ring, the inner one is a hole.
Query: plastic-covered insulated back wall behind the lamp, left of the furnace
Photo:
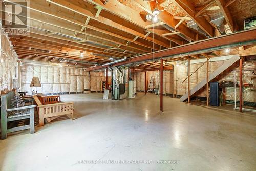
[[[105,81],[104,72],[89,73],[80,68],[24,63],[21,70],[22,91],[29,94],[35,90],[30,88],[33,76],[38,76],[41,82],[42,87],[37,88],[37,92],[44,94],[81,93],[84,89],[100,91],[101,81]]]

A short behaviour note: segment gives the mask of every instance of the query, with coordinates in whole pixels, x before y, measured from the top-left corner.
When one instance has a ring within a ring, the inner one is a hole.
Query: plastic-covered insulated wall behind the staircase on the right
[[[225,61],[212,61],[209,62],[209,73],[216,71]],[[199,68],[202,66],[201,68]],[[199,69],[198,69],[199,68]],[[198,70],[197,70],[198,69]],[[245,61],[243,63],[243,83],[252,84],[252,87],[243,88],[243,100],[247,102],[256,102],[256,80],[255,75],[253,75],[253,70],[256,69],[255,61]],[[197,71],[196,71],[197,70]],[[190,65],[190,89],[193,89],[199,82],[201,82],[206,77],[206,63],[194,63]],[[231,68],[231,70],[226,70],[218,76],[214,81],[234,81],[234,74],[236,73],[236,81],[239,81],[239,66]],[[174,66],[174,93],[177,95],[184,95],[188,92],[188,80],[181,83],[187,78],[187,66],[179,65]],[[199,97],[206,97],[206,90],[197,94]],[[227,101],[234,101],[234,87],[225,87],[223,90],[223,98]],[[239,101],[239,88],[236,89],[236,100]]]

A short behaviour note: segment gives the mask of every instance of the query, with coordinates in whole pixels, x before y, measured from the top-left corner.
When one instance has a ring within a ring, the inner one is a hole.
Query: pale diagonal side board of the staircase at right
[[[222,66],[220,66],[217,70],[213,73],[209,74],[209,81],[220,75],[223,71],[225,71],[228,67],[232,66],[236,61],[240,59],[239,55],[233,55],[230,59],[228,59]],[[203,88],[207,83],[206,77],[197,84],[193,89],[190,90],[190,97],[193,96],[197,91]],[[180,98],[180,101],[183,102],[188,98],[188,93]]]

